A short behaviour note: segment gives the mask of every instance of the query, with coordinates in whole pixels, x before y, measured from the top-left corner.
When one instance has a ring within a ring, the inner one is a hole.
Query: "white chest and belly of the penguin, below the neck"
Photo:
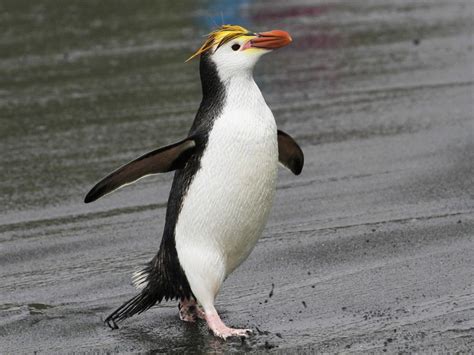
[[[254,248],[269,215],[278,142],[273,115],[263,104],[258,112],[224,109],[184,198],[176,250],[195,294],[201,283],[217,294]]]

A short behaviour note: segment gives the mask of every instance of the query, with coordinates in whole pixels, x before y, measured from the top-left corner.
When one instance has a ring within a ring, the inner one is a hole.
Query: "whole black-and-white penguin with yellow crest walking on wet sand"
[[[260,57],[291,41],[285,31],[237,25],[211,32],[188,59],[200,56],[202,84],[188,136],[123,165],[86,195],[90,203],[147,175],[175,171],[158,253],[133,275],[140,292],[106,318],[111,328],[176,299],[181,320],[204,319],[216,337],[251,333],[225,325],[214,301],[262,234],[279,163],[295,175],[303,169],[301,148],[277,129],[253,79]]]

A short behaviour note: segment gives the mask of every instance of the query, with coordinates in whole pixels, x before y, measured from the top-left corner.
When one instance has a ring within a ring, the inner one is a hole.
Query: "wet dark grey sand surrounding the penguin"
[[[0,352],[472,351],[472,2],[222,6],[0,4]],[[217,301],[255,335],[215,339],[175,302],[112,331],[172,176],[83,197],[186,134],[200,84],[183,61],[220,11],[294,39],[256,80],[306,165],[281,169],[263,237]]]

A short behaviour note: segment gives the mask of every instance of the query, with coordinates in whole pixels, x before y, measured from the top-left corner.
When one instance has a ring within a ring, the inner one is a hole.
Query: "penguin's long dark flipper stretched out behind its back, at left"
[[[138,179],[184,167],[197,146],[194,137],[153,150],[118,168],[99,181],[86,195],[85,203],[93,202],[112,191]]]

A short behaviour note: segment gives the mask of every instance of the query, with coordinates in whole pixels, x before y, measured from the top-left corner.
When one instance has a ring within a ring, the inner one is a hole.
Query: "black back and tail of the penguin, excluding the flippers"
[[[214,121],[222,112],[226,99],[224,84],[209,53],[201,55],[199,69],[202,101],[189,132],[189,136],[193,136],[196,140],[197,149],[184,168],[175,172],[160,249],[143,270],[147,274],[146,286],[140,294],[107,317],[105,322],[112,328],[117,327],[116,322],[142,313],[163,299],[189,299],[193,296],[176,252],[175,228],[188,188],[201,167],[201,157],[206,149],[209,133]]]

